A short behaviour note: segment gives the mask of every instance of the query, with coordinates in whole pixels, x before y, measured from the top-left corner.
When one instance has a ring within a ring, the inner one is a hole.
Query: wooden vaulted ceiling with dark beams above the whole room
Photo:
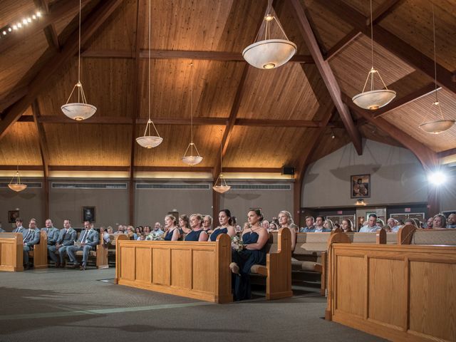
[[[371,68],[368,1],[329,2],[273,1],[298,53],[261,71],[241,51],[257,35],[266,0],[152,0],[152,119],[164,140],[145,150],[134,138],[147,120],[147,0],[83,1],[81,81],[98,108],[83,123],[60,110],[77,81],[78,1],[2,1],[2,28],[36,10],[43,16],[0,38],[0,167],[185,166],[191,89],[198,167],[218,170],[222,144],[224,167],[304,170],[348,142],[361,152],[360,135],[408,147],[423,163],[448,154],[456,128],[418,129],[435,118],[430,1],[373,1],[375,66],[398,93],[377,112],[351,103]],[[456,119],[456,1],[434,3],[440,102]]]

